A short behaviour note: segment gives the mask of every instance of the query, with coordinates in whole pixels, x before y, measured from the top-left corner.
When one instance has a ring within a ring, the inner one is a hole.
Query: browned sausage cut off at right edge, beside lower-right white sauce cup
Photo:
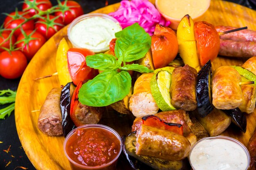
[[[256,129],[254,130],[252,137],[249,139],[247,148],[251,157],[248,170],[256,170]]]

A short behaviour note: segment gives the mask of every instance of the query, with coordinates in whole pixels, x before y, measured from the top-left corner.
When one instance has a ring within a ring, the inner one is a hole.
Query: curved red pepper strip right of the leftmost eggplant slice
[[[74,93],[73,93],[73,96],[72,96],[72,99],[71,99],[71,104],[70,104],[70,118],[74,122],[76,127],[83,125],[83,123],[80,122],[76,118],[76,115],[75,115],[75,110],[76,110],[76,107],[77,107],[77,105],[79,103],[79,101],[78,101],[78,93],[79,93],[79,89],[82,87],[82,85],[83,85],[83,82],[80,81],[80,83],[78,83],[78,85],[74,89]]]

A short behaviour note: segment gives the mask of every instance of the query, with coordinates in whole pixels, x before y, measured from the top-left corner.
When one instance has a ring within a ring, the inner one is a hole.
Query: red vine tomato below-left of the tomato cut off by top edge
[[[6,29],[14,29],[17,26],[19,26],[22,22],[25,21],[25,19],[29,19],[30,16],[27,14],[24,14],[22,11],[16,11],[10,13],[4,20],[4,28]],[[22,24],[23,30],[33,30],[34,29],[34,21],[30,20],[29,22],[26,22]],[[21,33],[20,29],[17,29],[14,32],[14,35],[17,37]]]

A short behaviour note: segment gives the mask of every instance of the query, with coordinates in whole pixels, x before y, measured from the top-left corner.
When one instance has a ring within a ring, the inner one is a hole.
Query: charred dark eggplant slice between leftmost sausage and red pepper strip
[[[62,129],[64,137],[67,136],[70,131],[75,129],[75,124],[70,118],[70,104],[71,98],[76,86],[74,83],[67,83],[61,91],[61,114],[62,114]]]

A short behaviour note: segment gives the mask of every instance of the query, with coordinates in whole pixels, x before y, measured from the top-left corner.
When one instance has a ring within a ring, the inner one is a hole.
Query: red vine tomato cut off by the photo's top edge
[[[46,11],[52,7],[52,3],[49,0],[25,0],[22,5],[22,11],[29,11],[29,15],[33,16],[38,13],[38,8],[41,11]]]

